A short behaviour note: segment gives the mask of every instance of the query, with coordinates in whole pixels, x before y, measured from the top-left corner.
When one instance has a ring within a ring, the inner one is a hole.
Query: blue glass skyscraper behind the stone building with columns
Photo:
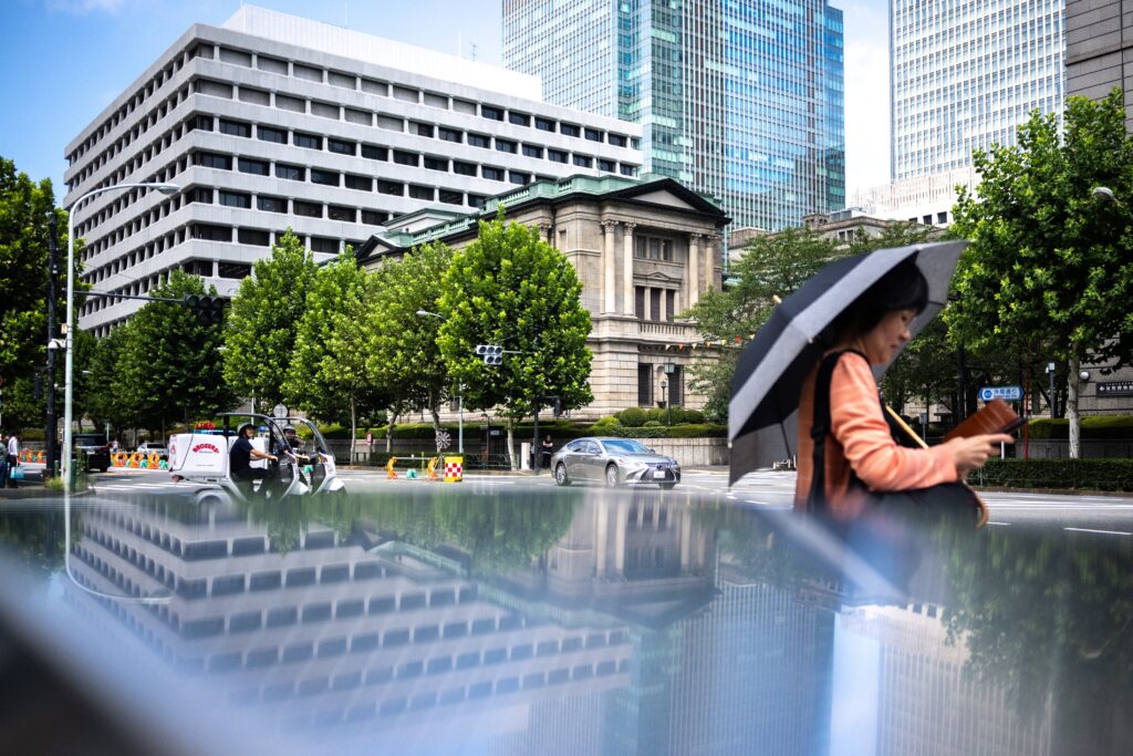
[[[503,59],[547,102],[641,124],[644,170],[733,227],[845,205],[842,11],[824,0],[504,0]]]

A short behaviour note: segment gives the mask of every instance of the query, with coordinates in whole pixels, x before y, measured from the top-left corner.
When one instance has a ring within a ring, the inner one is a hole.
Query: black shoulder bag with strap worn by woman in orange
[[[807,509],[816,515],[829,515],[826,501],[826,456],[824,447],[830,432],[830,377],[838,359],[846,351],[861,355],[860,351],[846,349],[827,355],[818,367],[815,381],[815,417],[810,428],[810,438],[815,442],[810,493],[807,496]],[[864,358],[864,355],[861,355]],[[886,418],[886,424],[888,418]],[[891,431],[893,428],[889,424]],[[968,484],[953,482],[939,483],[927,489],[910,491],[870,491],[858,475],[851,470],[850,487],[857,489],[866,496],[868,510],[892,512],[902,517],[930,518],[970,517],[977,526],[987,520],[987,508]]]

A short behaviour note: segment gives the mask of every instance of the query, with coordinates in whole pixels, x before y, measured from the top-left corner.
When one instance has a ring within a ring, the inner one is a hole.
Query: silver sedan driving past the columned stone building
[[[576,439],[551,457],[555,483],[602,481],[614,487],[624,483],[656,483],[672,489],[681,482],[681,466],[632,439]]]

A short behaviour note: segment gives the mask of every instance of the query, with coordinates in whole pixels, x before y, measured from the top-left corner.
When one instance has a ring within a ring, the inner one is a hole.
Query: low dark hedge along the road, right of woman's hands
[[[1133,491],[1133,460],[989,459],[969,481],[1011,489]]]

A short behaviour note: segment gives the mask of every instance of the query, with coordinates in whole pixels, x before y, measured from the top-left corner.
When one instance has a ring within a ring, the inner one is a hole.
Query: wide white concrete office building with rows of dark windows
[[[324,260],[390,219],[509,186],[634,176],[640,127],[539,100],[538,80],[261,8],[195,25],[67,145],[83,280],[140,295],[171,270],[235,292],[292,228]],[[102,335],[140,306],[90,297]]]

